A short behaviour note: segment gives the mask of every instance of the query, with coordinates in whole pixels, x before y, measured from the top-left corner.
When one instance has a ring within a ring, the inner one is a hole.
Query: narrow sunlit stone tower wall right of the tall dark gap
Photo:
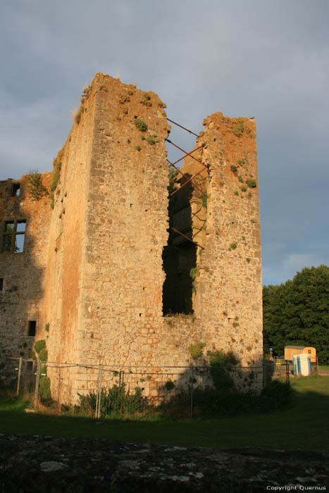
[[[209,199],[196,311],[212,344],[234,351],[243,365],[257,363],[263,341],[256,124],[214,113],[204,126],[198,142],[205,144]]]

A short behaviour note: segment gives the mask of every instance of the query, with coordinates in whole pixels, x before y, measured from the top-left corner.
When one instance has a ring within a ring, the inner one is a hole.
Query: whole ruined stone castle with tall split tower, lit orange
[[[164,108],[97,73],[42,184],[0,182],[2,356],[44,339],[51,362],[189,366],[201,343],[261,361],[255,121],[213,113],[179,168]],[[66,399],[90,387],[70,375]]]

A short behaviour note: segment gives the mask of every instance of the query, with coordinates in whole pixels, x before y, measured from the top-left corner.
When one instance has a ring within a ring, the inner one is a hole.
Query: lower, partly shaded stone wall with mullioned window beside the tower
[[[50,173],[43,175],[47,185]],[[13,185],[20,185],[20,195],[11,196]],[[44,339],[45,251],[51,211],[47,197],[35,201],[28,192],[27,175],[20,180],[0,182],[0,227],[6,222],[26,220],[23,252],[2,253],[0,236],[0,356],[29,357],[35,337]],[[36,322],[36,335],[28,335],[29,320]]]

